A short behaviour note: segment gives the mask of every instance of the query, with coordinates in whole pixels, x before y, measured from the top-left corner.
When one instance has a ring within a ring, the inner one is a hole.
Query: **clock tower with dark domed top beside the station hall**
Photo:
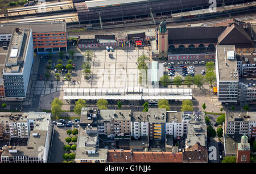
[[[167,57],[168,53],[168,30],[166,28],[166,23],[163,20],[159,25],[158,30],[158,52],[159,58]]]

